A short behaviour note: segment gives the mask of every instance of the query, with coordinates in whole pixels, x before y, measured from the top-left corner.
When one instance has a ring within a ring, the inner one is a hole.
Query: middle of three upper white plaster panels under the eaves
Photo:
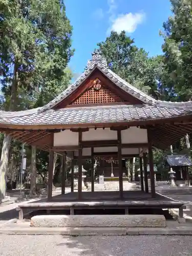
[[[117,131],[111,131],[110,128],[90,129],[88,132],[82,133],[82,140],[117,140]]]

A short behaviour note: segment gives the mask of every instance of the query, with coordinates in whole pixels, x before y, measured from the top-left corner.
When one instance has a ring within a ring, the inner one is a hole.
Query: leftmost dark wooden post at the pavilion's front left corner
[[[51,134],[51,146],[53,146],[53,141],[54,141],[54,134]],[[47,197],[48,201],[51,201],[52,199],[52,187],[53,187],[53,155],[54,152],[52,148],[50,147],[49,150],[49,178],[48,178],[48,192],[47,192]]]

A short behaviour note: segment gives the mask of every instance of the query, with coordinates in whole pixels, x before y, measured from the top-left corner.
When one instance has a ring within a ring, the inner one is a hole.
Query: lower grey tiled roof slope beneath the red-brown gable
[[[157,105],[116,105],[94,106],[81,108],[65,108],[17,112],[1,112],[1,124],[13,125],[45,125],[45,124],[82,124],[82,123],[113,123],[130,122],[139,120],[165,119],[192,115],[191,108],[178,108]],[[2,125],[1,125],[2,126]]]

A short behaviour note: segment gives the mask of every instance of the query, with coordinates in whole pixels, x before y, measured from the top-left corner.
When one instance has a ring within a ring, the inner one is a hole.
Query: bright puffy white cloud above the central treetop
[[[133,33],[137,26],[143,23],[144,19],[145,13],[142,12],[121,14],[113,20],[110,30],[117,33],[120,33],[122,30],[127,33]]]

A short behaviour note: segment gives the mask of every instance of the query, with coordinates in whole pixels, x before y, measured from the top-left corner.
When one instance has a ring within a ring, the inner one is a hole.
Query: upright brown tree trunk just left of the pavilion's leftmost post
[[[31,147],[30,195],[36,195],[36,148]]]

